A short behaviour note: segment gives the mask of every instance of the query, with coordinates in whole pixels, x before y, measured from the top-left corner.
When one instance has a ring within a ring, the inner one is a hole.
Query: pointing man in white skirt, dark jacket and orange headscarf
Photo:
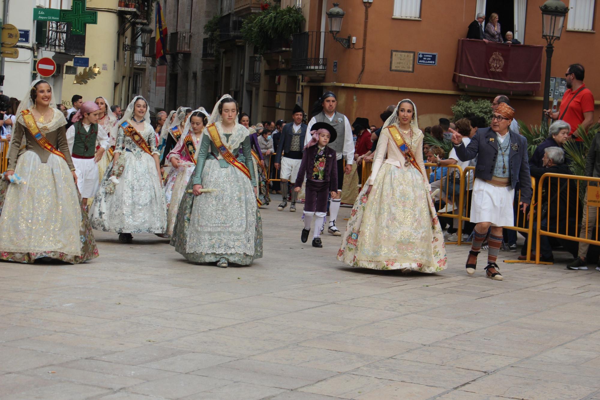
[[[532,197],[527,140],[509,132],[514,114],[511,106],[500,103],[493,113],[491,127],[479,129],[466,147],[460,133],[451,129],[458,158],[469,161],[477,157],[470,217],[476,225],[467,258],[467,273],[475,273],[481,243],[491,227],[485,274],[494,280],[503,279],[496,260],[502,244],[502,227],[514,226],[512,202],[517,183],[520,185],[523,212]]]

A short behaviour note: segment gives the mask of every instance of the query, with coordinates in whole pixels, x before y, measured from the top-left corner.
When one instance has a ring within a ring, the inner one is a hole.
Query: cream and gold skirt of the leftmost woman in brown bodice
[[[50,154],[43,163],[25,151],[14,172],[24,183],[0,183],[0,259],[79,264],[96,258],[92,228],[65,160]]]

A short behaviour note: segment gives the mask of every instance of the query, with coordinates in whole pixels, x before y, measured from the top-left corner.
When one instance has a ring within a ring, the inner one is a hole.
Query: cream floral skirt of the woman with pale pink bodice
[[[446,268],[442,228],[421,173],[383,163],[356,198],[337,258],[351,267],[434,273]]]

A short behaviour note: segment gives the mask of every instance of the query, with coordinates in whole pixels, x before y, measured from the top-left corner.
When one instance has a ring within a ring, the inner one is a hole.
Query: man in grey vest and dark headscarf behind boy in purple
[[[337,112],[337,97],[334,92],[326,91],[317,100],[313,107],[313,118],[308,121],[308,128],[306,130],[306,138],[304,144],[307,145],[310,142],[312,136],[310,135],[311,129],[314,124],[322,122],[330,124],[337,132],[338,139],[331,144],[331,148],[335,150],[337,154],[337,170],[338,173],[338,194],[336,198],[331,199],[329,205],[329,227],[327,231],[329,234],[334,236],[341,236],[340,230],[335,226],[335,220],[337,214],[340,211],[341,202],[341,188],[344,184],[344,174],[341,173],[344,170],[345,174],[352,172],[352,164],[354,163],[354,139],[352,138],[352,127],[350,121],[346,115]],[[344,168],[343,159],[346,159],[346,167]]]

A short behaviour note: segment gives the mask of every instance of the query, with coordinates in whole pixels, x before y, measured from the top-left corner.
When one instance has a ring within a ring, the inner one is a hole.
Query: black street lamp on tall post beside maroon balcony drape
[[[552,65],[552,53],[554,52],[554,41],[560,40],[565,16],[569,8],[560,0],[548,0],[539,6],[542,10],[542,38],[546,40],[546,76],[544,82],[544,109],[550,108],[550,69]],[[548,115],[543,113],[544,123],[548,122]]]

